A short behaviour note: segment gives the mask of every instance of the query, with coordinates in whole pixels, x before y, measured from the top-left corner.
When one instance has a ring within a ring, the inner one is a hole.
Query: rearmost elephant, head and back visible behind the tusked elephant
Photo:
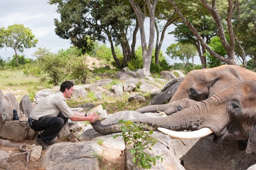
[[[185,76],[169,103],[185,98],[201,102],[240,80],[256,81],[256,73],[236,65],[193,70]]]

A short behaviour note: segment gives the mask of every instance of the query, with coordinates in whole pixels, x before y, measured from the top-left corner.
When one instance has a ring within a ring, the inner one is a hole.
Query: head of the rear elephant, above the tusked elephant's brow
[[[185,98],[201,102],[238,81],[233,74],[225,71],[193,70],[185,76],[169,103]]]

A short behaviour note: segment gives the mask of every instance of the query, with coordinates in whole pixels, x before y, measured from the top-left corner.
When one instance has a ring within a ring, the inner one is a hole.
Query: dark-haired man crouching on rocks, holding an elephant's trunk
[[[35,141],[46,149],[54,143],[54,138],[66,124],[68,119],[72,121],[89,120],[94,122],[99,119],[96,113],[83,114],[71,111],[66,103],[66,98],[71,98],[74,91],[74,84],[64,81],[60,90],[44,97],[32,110],[30,116],[35,131],[43,131],[35,137]]]

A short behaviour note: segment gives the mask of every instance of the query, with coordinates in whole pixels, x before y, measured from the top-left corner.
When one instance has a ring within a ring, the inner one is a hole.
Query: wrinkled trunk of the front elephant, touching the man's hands
[[[215,98],[215,99],[214,99]],[[216,99],[218,98],[218,99]],[[218,101],[218,102],[216,102]],[[191,106],[182,111],[178,111],[172,115],[159,117],[159,118],[140,118],[137,120],[131,120],[136,124],[145,124],[144,130],[153,128],[154,131],[159,131],[157,128],[166,128],[175,131],[184,130],[199,130],[201,128],[210,128],[217,136],[221,136],[225,133],[228,117],[223,108],[219,108],[219,103],[226,107],[226,104],[216,95],[208,98],[200,104]],[[207,109],[208,108],[208,109]],[[209,108],[218,109],[215,113],[210,112]],[[138,113],[140,114],[140,113]],[[120,133],[122,124],[102,125],[99,120],[91,123],[95,131],[100,134],[113,134]],[[148,127],[148,128],[147,128]]]

